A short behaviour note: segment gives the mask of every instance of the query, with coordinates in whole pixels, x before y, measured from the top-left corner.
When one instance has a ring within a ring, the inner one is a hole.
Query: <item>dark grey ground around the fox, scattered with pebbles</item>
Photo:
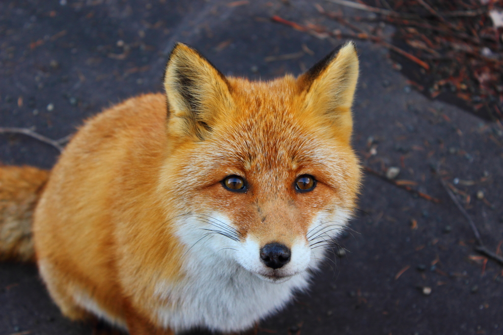
[[[159,92],[176,41],[200,50],[224,74],[299,74],[344,41],[270,18],[344,29],[321,18],[314,4],[2,1],[0,126],[34,127],[58,139],[125,98]],[[354,232],[341,238],[345,255],[333,249],[310,290],[263,320],[259,334],[503,333],[503,268],[474,251],[474,234],[439,180],[457,192],[487,248],[501,250],[503,127],[415,92],[393,70],[387,49],[361,41],[357,47],[354,146],[362,162],[381,174],[399,167],[400,183],[440,202],[367,174]],[[32,138],[0,135],[5,164],[50,168],[57,156]],[[91,331],[60,315],[33,265],[0,265],[0,335]]]

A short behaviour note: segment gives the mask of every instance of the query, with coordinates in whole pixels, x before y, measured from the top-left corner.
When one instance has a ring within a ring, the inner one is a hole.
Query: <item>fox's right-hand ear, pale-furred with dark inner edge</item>
[[[322,116],[338,137],[349,141],[353,131],[351,105],[358,81],[358,55],[353,42],[333,50],[297,83],[305,93],[306,112]]]

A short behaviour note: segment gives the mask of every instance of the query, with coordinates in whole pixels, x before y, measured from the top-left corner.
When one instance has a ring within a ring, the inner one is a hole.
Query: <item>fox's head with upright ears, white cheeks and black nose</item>
[[[316,268],[356,206],[357,77],[353,43],[271,81],[226,77],[175,46],[164,75],[169,147],[159,193],[179,213],[168,219],[191,257],[270,282]]]

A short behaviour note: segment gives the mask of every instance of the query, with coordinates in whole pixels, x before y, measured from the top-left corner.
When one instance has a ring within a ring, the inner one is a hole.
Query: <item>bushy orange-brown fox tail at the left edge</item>
[[[0,261],[35,261],[33,210],[49,171],[0,165]]]

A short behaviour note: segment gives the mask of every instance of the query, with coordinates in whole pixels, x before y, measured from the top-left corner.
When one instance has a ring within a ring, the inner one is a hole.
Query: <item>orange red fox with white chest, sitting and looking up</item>
[[[91,118],[33,177],[36,260],[62,313],[167,335],[236,333],[282,308],[356,207],[357,77],[352,43],[271,81],[224,76],[177,44],[165,95]],[[30,259],[22,242],[0,252]]]

